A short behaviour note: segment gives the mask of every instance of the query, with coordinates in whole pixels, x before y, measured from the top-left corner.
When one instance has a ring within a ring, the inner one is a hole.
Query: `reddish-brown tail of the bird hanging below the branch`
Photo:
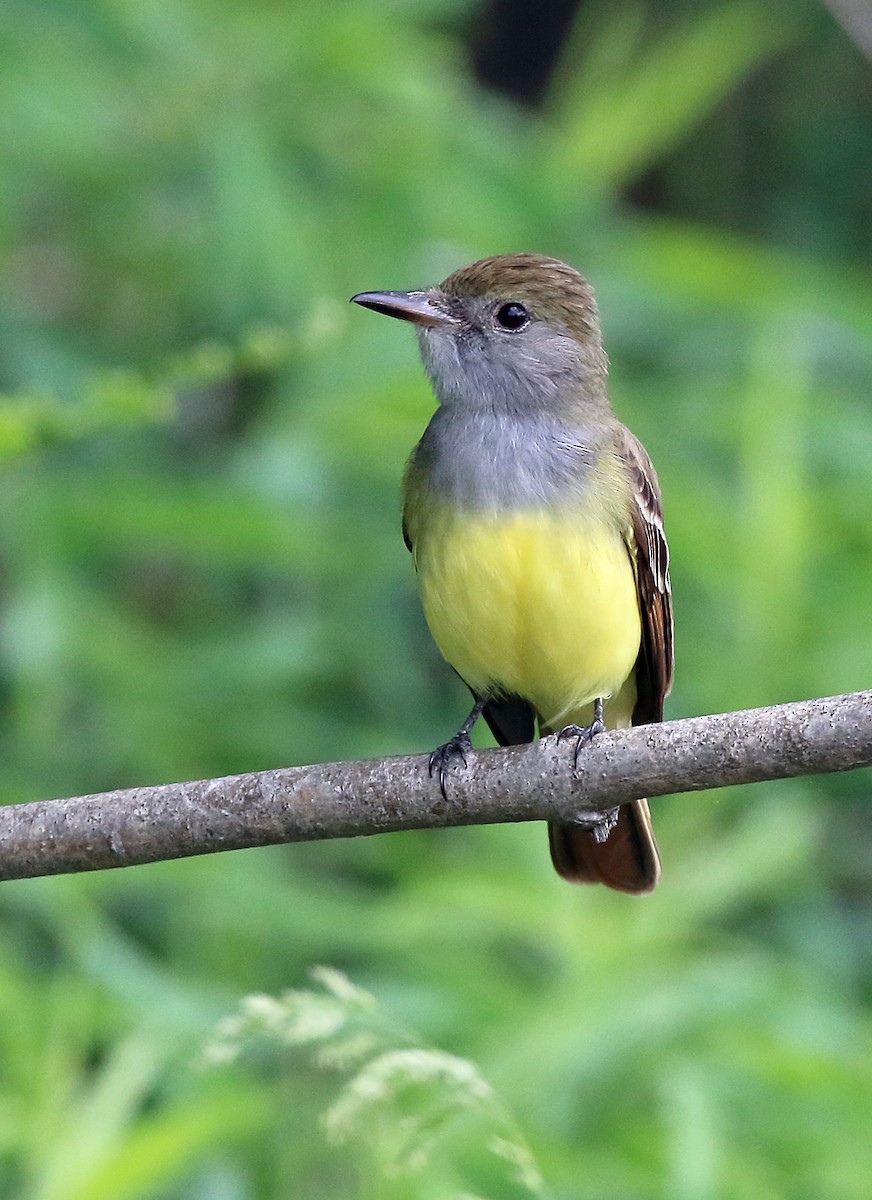
[[[651,892],[660,878],[660,856],[648,800],[618,809],[618,823],[605,841],[573,824],[549,824],[554,870],[571,883],[605,883],[636,895]]]

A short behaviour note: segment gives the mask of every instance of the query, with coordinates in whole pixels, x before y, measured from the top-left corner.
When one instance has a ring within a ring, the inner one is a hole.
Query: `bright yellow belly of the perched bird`
[[[427,624],[470,688],[524,697],[549,728],[615,696],[607,724],[629,724],[641,622],[618,530],[575,514],[434,514],[421,534]]]

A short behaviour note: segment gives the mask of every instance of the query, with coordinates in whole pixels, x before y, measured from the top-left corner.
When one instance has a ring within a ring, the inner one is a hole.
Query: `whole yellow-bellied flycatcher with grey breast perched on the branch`
[[[433,638],[475,704],[431,756],[660,721],[673,670],[669,552],[650,460],[613,415],[594,294],[565,263],[503,254],[356,304],[411,322],[439,407],[405,470],[403,534]],[[548,828],[564,878],[650,892],[643,799]]]

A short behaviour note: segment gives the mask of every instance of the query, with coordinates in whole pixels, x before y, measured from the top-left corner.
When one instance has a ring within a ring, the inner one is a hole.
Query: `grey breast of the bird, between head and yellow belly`
[[[541,508],[583,494],[596,458],[583,428],[546,414],[433,414],[415,467],[435,497],[464,509]]]

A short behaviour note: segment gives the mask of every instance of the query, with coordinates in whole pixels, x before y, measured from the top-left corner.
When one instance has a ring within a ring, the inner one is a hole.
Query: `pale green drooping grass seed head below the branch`
[[[324,1128],[333,1145],[357,1144],[383,1196],[408,1195],[425,1175],[420,1194],[459,1195],[470,1166],[495,1175],[499,1195],[543,1195],[529,1147],[471,1062],[393,1027],[374,997],[341,972],[315,967],[312,977],[319,991],[246,997],[240,1014],[218,1026],[206,1061],[233,1061],[253,1045],[263,1051],[265,1043],[273,1056],[311,1049],[317,1067],[349,1075],[323,1116]],[[473,1163],[464,1164],[470,1144]]]

